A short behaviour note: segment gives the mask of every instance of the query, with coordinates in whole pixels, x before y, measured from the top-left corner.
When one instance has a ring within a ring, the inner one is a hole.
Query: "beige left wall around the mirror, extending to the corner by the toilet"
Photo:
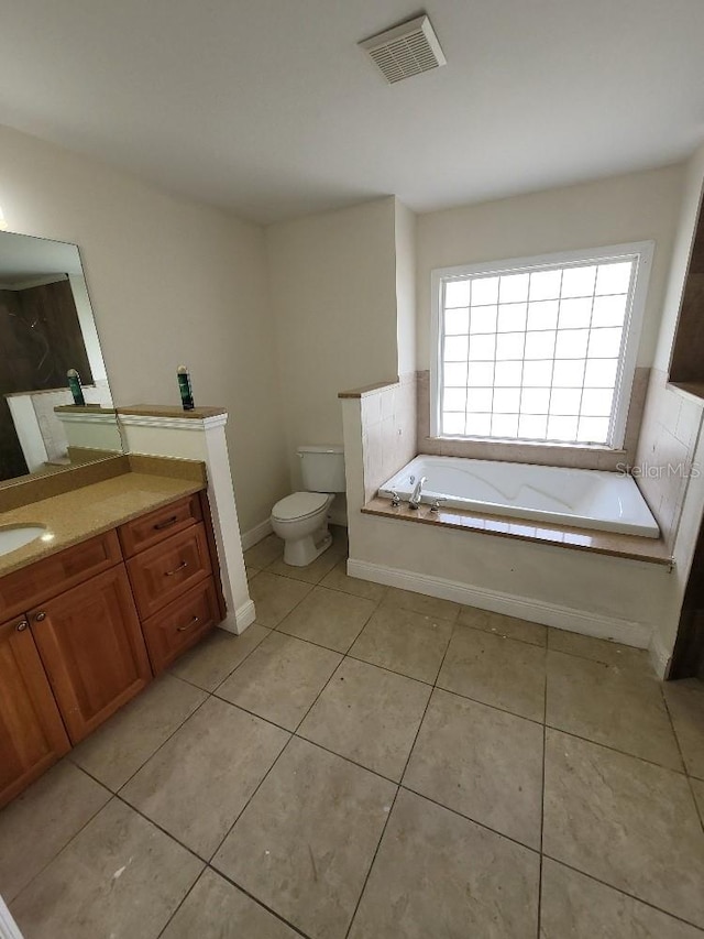
[[[118,404],[224,405],[243,531],[287,488],[264,232],[0,128],[8,228],[79,245]]]

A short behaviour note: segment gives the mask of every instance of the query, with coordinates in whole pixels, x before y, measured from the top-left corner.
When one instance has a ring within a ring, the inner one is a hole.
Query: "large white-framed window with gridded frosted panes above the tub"
[[[620,446],[651,255],[436,271],[433,433]]]

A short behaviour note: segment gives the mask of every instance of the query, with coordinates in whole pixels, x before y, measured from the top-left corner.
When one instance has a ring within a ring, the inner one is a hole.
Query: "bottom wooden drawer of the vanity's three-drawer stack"
[[[142,623],[155,675],[163,672],[220,620],[212,577]]]

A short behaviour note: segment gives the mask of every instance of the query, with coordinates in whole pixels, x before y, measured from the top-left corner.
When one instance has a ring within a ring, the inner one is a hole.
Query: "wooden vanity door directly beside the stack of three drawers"
[[[30,623],[73,743],[152,677],[122,565],[32,610]]]

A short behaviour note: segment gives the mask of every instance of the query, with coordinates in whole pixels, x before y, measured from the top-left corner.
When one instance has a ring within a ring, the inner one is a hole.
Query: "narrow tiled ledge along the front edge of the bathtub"
[[[538,542],[542,545],[553,545],[554,547],[578,552],[593,552],[649,564],[672,564],[672,553],[661,537],[644,538],[639,535],[595,532],[569,525],[550,525],[544,522],[531,523],[507,515],[486,515],[480,512],[465,512],[461,509],[441,507],[438,512],[431,512],[430,506],[425,504],[415,511],[405,503],[394,509],[387,499],[380,499],[378,496],[367,502],[362,512],[367,515],[380,515],[403,522],[443,525],[449,528],[494,535],[501,538]]]

